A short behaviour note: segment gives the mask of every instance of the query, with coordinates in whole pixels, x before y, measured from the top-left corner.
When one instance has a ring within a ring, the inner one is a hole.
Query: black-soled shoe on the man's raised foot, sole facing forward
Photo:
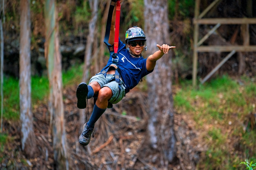
[[[86,99],[88,94],[88,86],[86,83],[80,83],[76,89],[77,107],[79,109],[86,108]]]

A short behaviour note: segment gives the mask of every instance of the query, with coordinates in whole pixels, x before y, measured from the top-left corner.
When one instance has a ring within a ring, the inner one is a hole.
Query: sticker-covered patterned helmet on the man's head
[[[133,26],[125,32],[125,42],[128,44],[128,41],[132,41],[132,40],[146,41],[145,33],[140,27]]]

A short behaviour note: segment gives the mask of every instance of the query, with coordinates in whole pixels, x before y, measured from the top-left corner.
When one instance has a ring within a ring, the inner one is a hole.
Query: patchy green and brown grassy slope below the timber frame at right
[[[251,129],[250,122],[246,126],[249,113],[255,113],[255,82],[247,77],[239,82],[224,75],[197,88],[190,80],[178,86],[174,110],[191,116],[196,122],[194,130],[207,144],[199,169],[244,169],[241,161],[250,158],[256,162],[256,129]]]

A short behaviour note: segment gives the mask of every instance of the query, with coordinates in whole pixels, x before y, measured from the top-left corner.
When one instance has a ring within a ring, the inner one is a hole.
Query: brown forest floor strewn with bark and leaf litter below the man
[[[78,137],[83,124],[76,107],[76,87],[66,87],[63,91],[71,169],[195,169],[200,153],[206,149],[195,144],[198,143],[195,141],[200,140],[200,132],[193,131],[195,122],[187,115],[174,113],[179,159],[175,157],[172,164],[168,164],[158,150],[149,147],[145,138],[147,93],[136,88],[112,109],[106,110],[94,128],[96,134],[90,144],[86,147],[80,145]],[[175,92],[174,86],[173,90]],[[88,114],[91,114],[92,108],[93,101],[89,100],[89,113],[85,109],[86,119],[89,119]],[[124,113],[123,110],[127,111]],[[0,169],[54,169],[47,101],[35,105],[33,114],[37,143],[34,158],[27,159],[22,153],[18,123],[4,122],[4,130],[9,131],[11,138],[0,152]]]

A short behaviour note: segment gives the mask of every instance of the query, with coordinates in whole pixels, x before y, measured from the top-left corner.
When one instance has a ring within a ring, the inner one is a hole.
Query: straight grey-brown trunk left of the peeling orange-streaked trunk
[[[21,120],[21,148],[27,156],[33,157],[36,143],[33,129],[33,115],[31,107],[31,21],[29,2],[29,0],[21,0],[19,94]]]

